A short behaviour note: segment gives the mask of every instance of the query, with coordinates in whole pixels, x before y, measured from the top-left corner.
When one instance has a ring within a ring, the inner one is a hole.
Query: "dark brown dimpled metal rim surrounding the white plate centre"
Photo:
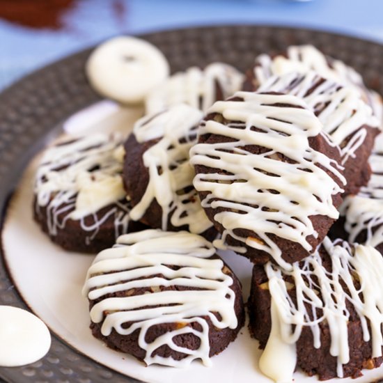
[[[383,45],[362,38],[290,26],[249,24],[172,29],[139,37],[153,42],[164,52],[172,72],[219,60],[246,70],[256,54],[311,43],[354,66],[364,75],[368,86],[383,93],[383,75],[380,75]],[[84,73],[84,63],[92,49],[47,65],[0,93],[0,230],[10,197],[29,160],[60,132],[61,123],[70,114],[100,100]],[[0,304],[31,310],[10,278],[2,244]],[[29,366],[0,368],[1,378],[15,383],[138,382],[97,364],[54,334],[51,350],[44,358]]]

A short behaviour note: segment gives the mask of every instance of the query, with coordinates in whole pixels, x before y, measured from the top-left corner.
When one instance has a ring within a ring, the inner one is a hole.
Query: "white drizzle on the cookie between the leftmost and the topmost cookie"
[[[194,169],[189,164],[189,149],[196,143],[196,126],[202,112],[179,104],[154,116],[146,116],[134,125],[133,134],[139,143],[158,141],[143,153],[149,182],[141,201],[130,217],[139,220],[153,200],[162,208],[162,229],[168,221],[173,226],[189,226],[192,233],[203,233],[212,226],[201,208],[193,186]]]

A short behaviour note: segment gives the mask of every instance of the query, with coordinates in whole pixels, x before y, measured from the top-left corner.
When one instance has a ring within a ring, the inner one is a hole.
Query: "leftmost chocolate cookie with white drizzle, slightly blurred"
[[[63,249],[97,253],[119,235],[147,227],[129,217],[122,143],[116,135],[93,134],[53,146],[42,157],[33,214]]]

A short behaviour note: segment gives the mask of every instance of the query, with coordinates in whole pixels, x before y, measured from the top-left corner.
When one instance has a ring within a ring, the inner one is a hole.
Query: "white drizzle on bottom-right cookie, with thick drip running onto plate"
[[[347,335],[350,311],[347,309],[347,302],[352,304],[360,318],[364,341],[371,342],[371,357],[382,356],[382,255],[373,247],[360,244],[350,245],[342,241],[333,244],[328,237],[322,246],[329,254],[331,269],[322,265],[319,251],[315,251],[301,263],[294,263],[290,271],[271,262],[265,265],[274,311],[272,332],[265,349],[268,350],[263,358],[273,358],[275,361],[285,357],[285,360],[290,360],[290,366],[279,366],[286,368],[285,377],[295,368],[292,366],[296,360],[294,345],[301,336],[303,327],[310,327],[313,346],[321,347],[321,322],[327,322],[329,326],[330,354],[337,358],[338,377],[343,377],[343,365],[350,361]],[[296,303],[290,297],[290,289],[296,293]],[[273,344],[281,343],[281,348],[272,347]],[[289,345],[292,347],[289,348]],[[286,354],[281,354],[281,351]],[[263,373],[274,377],[275,373],[269,366],[267,361],[261,364]],[[279,376],[283,376],[282,371]]]

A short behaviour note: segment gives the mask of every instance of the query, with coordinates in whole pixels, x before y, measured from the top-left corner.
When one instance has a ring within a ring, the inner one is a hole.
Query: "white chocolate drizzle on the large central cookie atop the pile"
[[[288,268],[281,249],[268,234],[313,250],[306,238],[318,233],[308,217],[322,214],[336,219],[332,196],[343,189],[334,179],[340,183],[345,180],[333,159],[309,146],[309,137],[322,134],[322,124],[305,109],[303,100],[293,95],[250,92],[237,92],[235,97],[243,101],[216,102],[208,111],[232,122],[224,125],[207,120],[200,126],[198,134],[217,134],[227,137],[228,142],[198,143],[192,148],[192,164],[217,169],[197,174],[194,187],[208,192],[202,201],[205,208],[224,209],[214,214],[214,220],[224,226],[222,239],[215,245],[224,247],[230,235],[266,251],[276,263]],[[246,146],[260,146],[265,153],[254,155]],[[282,156],[292,163],[283,162]],[[255,232],[259,240],[240,237],[234,232],[237,228]],[[246,249],[238,247],[235,251],[244,253]]]

